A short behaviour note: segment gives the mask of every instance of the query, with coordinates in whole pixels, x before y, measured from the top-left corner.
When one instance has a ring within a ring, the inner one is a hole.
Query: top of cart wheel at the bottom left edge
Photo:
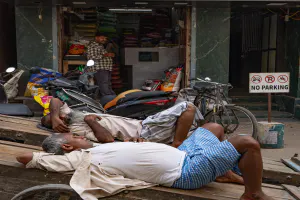
[[[68,185],[48,184],[23,190],[11,200],[81,200],[81,198]]]

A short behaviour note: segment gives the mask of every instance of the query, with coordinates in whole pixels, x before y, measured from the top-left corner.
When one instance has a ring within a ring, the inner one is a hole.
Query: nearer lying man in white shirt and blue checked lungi
[[[89,116],[87,116],[88,118]],[[106,134],[106,133],[103,133]],[[105,135],[112,139],[111,134]],[[27,153],[17,160],[27,168],[73,172],[70,186],[85,200],[162,185],[196,189],[237,166],[244,178],[241,200],[273,200],[263,193],[262,157],[256,140],[198,128],[178,148],[152,142],[114,142],[96,147],[83,136],[53,134],[43,142],[47,153]]]

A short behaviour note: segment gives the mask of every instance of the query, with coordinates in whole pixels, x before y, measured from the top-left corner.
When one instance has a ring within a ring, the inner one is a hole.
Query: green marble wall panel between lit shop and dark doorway
[[[217,6],[217,5],[216,5]],[[196,13],[196,77],[228,83],[230,6],[201,8]]]

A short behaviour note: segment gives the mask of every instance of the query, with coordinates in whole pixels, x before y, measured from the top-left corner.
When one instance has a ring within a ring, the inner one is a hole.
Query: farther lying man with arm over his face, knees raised
[[[129,119],[120,116],[97,114],[95,120],[84,120],[85,114],[74,111],[57,98],[50,102],[50,114],[43,117],[41,123],[56,132],[84,136],[89,140],[99,143],[136,139],[171,144],[178,147],[190,135],[203,119],[198,109],[187,101],[178,103],[173,107],[149,116],[145,120]],[[223,127],[208,123],[206,128],[218,129],[223,132]],[[113,137],[102,137],[103,133]]]

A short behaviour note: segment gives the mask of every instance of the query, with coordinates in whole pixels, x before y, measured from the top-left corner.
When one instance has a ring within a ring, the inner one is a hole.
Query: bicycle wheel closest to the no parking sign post
[[[257,120],[249,110],[235,105],[225,105],[225,108],[228,116],[224,111],[216,114],[210,111],[205,115],[205,121],[221,124],[227,138],[234,135],[249,135],[257,139]]]

